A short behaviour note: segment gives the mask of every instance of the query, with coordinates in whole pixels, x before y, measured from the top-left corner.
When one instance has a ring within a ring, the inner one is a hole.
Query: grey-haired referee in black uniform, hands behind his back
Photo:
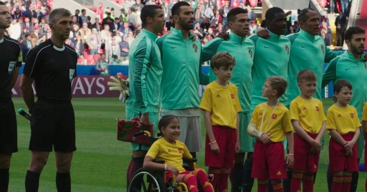
[[[76,76],[77,53],[65,44],[72,24],[70,12],[63,8],[53,10],[49,23],[52,36],[29,51],[20,86],[31,113],[29,150],[32,157],[25,178],[26,192],[38,191],[40,174],[52,146],[57,167],[57,191],[71,191],[70,167],[76,150],[71,81]]]

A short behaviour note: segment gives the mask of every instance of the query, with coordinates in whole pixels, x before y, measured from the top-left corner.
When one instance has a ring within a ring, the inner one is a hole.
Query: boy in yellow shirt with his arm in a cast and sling
[[[294,162],[293,128],[289,110],[279,102],[287,85],[288,82],[279,76],[266,79],[262,97],[268,98],[268,101],[255,107],[247,128],[247,133],[257,138],[251,176],[258,179],[258,192],[268,191],[269,178],[273,191],[283,192],[281,179],[287,178],[283,147],[286,137],[289,146],[286,164],[291,167]]]

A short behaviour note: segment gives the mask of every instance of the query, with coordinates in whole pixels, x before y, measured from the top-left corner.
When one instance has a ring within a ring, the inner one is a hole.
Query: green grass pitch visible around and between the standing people
[[[21,98],[13,98],[15,109],[27,109]],[[117,98],[74,98],[76,146],[71,179],[74,192],[125,192],[126,169],[131,158],[130,144],[116,140],[115,118],[125,118],[125,105]],[[324,100],[325,112],[333,104]],[[60,114],[62,115],[62,114]],[[25,191],[24,181],[30,160],[28,150],[30,125],[17,114],[18,148],[11,160],[9,192]],[[204,167],[205,127],[202,123],[202,150],[197,154],[198,164]],[[321,151],[315,192],[327,192],[326,170],[328,165],[329,136],[325,135],[324,150]],[[363,162],[364,159],[361,160]],[[40,192],[56,192],[56,167],[54,153],[40,177]],[[360,172],[358,192],[364,191],[366,173]],[[256,191],[256,180],[252,191]]]

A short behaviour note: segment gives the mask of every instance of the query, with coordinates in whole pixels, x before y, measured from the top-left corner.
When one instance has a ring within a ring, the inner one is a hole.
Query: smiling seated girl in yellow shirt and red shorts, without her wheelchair
[[[182,158],[192,159],[192,156],[186,145],[178,141],[180,135],[178,118],[174,115],[163,116],[158,123],[158,127],[163,134],[163,138],[158,139],[150,146],[143,167],[151,170],[164,170],[166,172],[166,182],[175,175],[176,181],[185,183],[189,192],[198,192],[197,182],[200,183],[204,192],[214,192],[203,169],[186,171],[182,166]],[[153,160],[163,160],[165,164],[155,163]]]

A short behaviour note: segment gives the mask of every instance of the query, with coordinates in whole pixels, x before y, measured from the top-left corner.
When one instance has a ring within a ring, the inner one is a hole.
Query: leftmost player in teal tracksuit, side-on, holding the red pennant
[[[130,97],[126,101],[126,118],[138,117],[139,127],[158,122],[160,82],[162,76],[161,55],[155,43],[157,35],[164,27],[162,8],[156,5],[144,6],[140,18],[143,30],[132,41],[129,50],[129,88]],[[149,146],[131,143],[132,159],[127,169],[127,181],[141,167]]]

